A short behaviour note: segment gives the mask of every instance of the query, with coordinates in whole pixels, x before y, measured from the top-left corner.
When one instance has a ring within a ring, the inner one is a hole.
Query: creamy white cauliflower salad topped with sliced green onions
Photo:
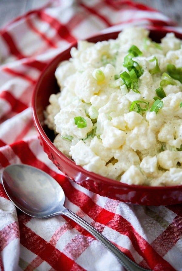
[[[182,41],[140,27],[79,41],[57,67],[45,123],[87,171],[129,185],[182,184]]]

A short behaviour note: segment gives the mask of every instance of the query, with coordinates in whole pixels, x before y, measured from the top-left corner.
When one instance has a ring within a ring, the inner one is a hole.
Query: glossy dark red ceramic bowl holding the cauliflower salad
[[[150,37],[160,42],[160,39],[170,30],[161,28],[150,28]],[[108,39],[115,39],[119,32],[112,32],[97,35],[88,39],[90,42],[97,42]],[[182,34],[175,33],[182,39]],[[72,46],[76,47],[77,44]],[[71,47],[72,47],[71,46]],[[106,196],[111,199],[120,200],[127,203],[141,205],[172,205],[182,202],[182,185],[167,187],[151,187],[141,185],[127,185],[119,181],[105,178],[93,172],[86,171],[83,167],[76,165],[72,160],[61,153],[54,145],[54,133],[44,124],[43,111],[49,104],[49,96],[57,93],[59,87],[55,78],[55,70],[59,62],[70,58],[70,49],[57,55],[42,72],[33,93],[32,112],[35,127],[39,133],[40,143],[49,159],[62,171],[69,179],[86,189]]]

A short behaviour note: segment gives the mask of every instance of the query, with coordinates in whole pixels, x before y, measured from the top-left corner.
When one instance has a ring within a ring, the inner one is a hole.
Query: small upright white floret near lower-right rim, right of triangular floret
[[[142,169],[143,173],[146,174],[149,178],[157,177],[159,170],[157,168],[157,157],[147,156],[144,157],[140,163],[140,168]]]

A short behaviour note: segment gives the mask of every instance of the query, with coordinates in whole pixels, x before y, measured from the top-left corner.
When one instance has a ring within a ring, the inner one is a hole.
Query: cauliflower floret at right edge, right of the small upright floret
[[[160,167],[164,169],[177,167],[178,162],[182,163],[182,152],[165,150],[157,154],[157,160]]]

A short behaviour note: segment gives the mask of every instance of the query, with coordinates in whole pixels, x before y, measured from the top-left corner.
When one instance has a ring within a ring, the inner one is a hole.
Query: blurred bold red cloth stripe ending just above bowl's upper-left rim
[[[42,21],[49,23],[49,25],[57,31],[57,34],[62,39],[67,40],[69,43],[76,41],[76,39],[69,33],[68,28],[65,25],[62,25],[57,19],[49,16],[43,11],[39,12],[38,16],[42,19]]]

